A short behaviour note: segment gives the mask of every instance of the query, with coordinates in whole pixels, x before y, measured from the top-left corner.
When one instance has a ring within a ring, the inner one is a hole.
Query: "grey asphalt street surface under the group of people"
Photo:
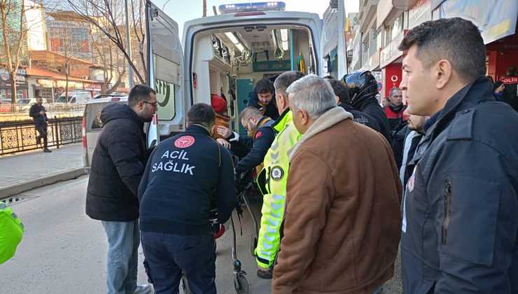
[[[100,221],[85,214],[87,176],[20,194],[26,200],[13,204],[26,231],[14,258],[0,265],[1,293],[105,293],[107,242]],[[247,211],[239,221],[237,256],[250,293],[270,293],[270,281],[255,275],[250,253],[253,223]],[[218,239],[216,285],[218,293],[235,293],[232,274],[231,234]],[[146,283],[139,249],[139,283]],[[388,281],[385,293],[401,293],[400,265],[396,279]],[[182,291],[181,291],[182,293]]]

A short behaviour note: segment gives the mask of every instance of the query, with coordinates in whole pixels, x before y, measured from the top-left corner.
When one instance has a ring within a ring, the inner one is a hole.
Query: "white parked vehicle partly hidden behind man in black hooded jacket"
[[[90,174],[92,155],[103,127],[101,111],[114,103],[127,104],[127,96],[92,99],[86,102],[83,114],[83,165],[87,174]]]

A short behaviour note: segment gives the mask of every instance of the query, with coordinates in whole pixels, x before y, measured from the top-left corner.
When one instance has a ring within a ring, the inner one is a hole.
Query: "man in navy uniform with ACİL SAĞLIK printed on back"
[[[234,209],[232,158],[211,139],[214,109],[195,104],[186,132],[158,144],[139,186],[142,248],[155,293],[178,293],[182,272],[193,293],[216,293],[211,202],[218,223]]]

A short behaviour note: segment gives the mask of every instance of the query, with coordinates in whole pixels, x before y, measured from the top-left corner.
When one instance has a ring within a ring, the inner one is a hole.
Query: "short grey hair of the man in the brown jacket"
[[[336,106],[335,92],[328,80],[310,74],[293,82],[286,90],[293,94],[292,111],[303,109],[309,118],[316,120],[325,111]]]

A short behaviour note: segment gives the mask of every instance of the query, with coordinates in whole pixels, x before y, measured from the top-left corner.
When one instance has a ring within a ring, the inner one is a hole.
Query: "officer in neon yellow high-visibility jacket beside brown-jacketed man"
[[[272,279],[275,256],[279,251],[282,217],[286,200],[286,180],[288,179],[288,150],[302,137],[295,125],[293,114],[288,108],[286,89],[304,73],[287,71],[276,78],[274,86],[280,118],[272,127],[279,132],[265,156],[265,167],[258,177],[258,186],[263,194],[260,230],[255,255],[262,279]]]

